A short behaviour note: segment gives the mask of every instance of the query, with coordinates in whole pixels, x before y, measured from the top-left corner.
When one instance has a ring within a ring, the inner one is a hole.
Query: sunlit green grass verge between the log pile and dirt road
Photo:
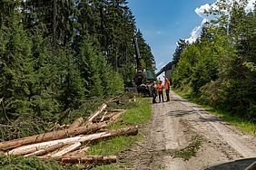
[[[136,105],[132,109],[127,110],[121,118],[123,122],[112,124],[109,128],[116,129],[120,127],[129,127],[134,125],[143,125],[150,121],[152,115],[151,99],[136,98]],[[127,105],[131,105],[127,103]],[[105,140],[96,143],[91,146],[87,155],[91,156],[118,156],[123,151],[131,148],[135,142],[143,139],[143,135],[140,133],[137,136],[120,136],[113,137],[109,140]],[[116,169],[114,165],[100,165],[94,167],[94,169]]]

